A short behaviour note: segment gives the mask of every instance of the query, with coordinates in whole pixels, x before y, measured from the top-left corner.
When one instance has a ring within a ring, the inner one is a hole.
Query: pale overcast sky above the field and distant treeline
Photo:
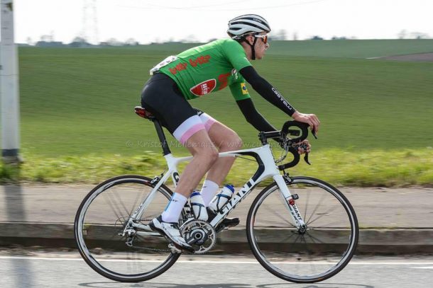
[[[84,4],[87,17],[84,17]],[[92,11],[92,3],[96,13]],[[14,0],[16,42],[41,35],[71,42],[134,38],[148,43],[226,37],[227,22],[245,13],[265,17],[287,38],[320,35],[358,39],[398,38],[401,30],[433,37],[432,0]],[[96,25],[95,25],[96,23]]]

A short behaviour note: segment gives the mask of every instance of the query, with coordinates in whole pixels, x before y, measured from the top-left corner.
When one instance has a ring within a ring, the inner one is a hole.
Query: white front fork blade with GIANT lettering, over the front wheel
[[[290,178],[287,174],[284,175],[275,175],[273,176],[273,180],[275,180],[275,183],[277,183],[278,188],[280,188],[281,191],[281,197],[284,198],[284,204],[287,210],[289,210],[290,215],[292,216],[293,221],[295,222],[296,228],[298,229],[298,232],[300,234],[304,234],[305,231],[307,231],[307,224],[305,224],[304,219],[302,218],[302,215],[297,209],[297,206],[295,204],[295,200],[298,199],[297,195],[292,195],[290,193],[289,188],[287,188],[287,185],[285,183],[285,180],[288,180],[290,182]]]

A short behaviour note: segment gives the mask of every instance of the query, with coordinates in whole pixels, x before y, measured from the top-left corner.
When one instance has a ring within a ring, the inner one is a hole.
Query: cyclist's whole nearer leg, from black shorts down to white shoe
[[[150,222],[153,229],[170,238],[173,243],[192,250],[180,235],[177,222],[192,190],[216,161],[217,149],[209,139],[197,112],[192,109],[170,77],[164,74],[153,76],[143,89],[141,105],[153,113],[193,155],[165,211]]]

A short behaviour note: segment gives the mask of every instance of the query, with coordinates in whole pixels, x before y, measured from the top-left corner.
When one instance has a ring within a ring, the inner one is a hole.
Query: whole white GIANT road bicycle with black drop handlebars
[[[173,156],[158,119],[141,107],[136,107],[136,113],[154,123],[168,169],[152,178],[121,175],[97,185],[84,197],[74,226],[86,263],[100,275],[119,282],[157,277],[183,253],[152,231],[148,222],[163,212],[170,200],[173,192],[165,182],[171,177],[177,185],[177,164],[192,157]],[[359,236],[349,201],[322,180],[292,177],[286,171],[300,161],[297,147],[307,135],[307,125],[288,121],[280,131],[261,132],[261,146],[219,154],[251,159],[258,169],[212,221],[194,219],[190,204],[185,205],[180,231],[194,247],[194,254],[212,251],[221,233],[221,221],[263,180],[272,178],[273,182],[256,196],[246,219],[246,237],[258,262],[273,275],[298,283],[326,280],[349,263]],[[284,148],[279,159],[274,158],[268,139],[277,139]],[[283,163],[287,154],[293,159]]]

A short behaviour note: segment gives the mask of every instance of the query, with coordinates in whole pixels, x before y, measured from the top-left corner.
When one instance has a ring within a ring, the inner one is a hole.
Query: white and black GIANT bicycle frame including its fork
[[[236,205],[238,205],[239,202],[241,202],[252,190],[255,188],[258,183],[265,180],[266,178],[272,177],[275,183],[277,183],[278,188],[280,188],[280,195],[283,197],[283,202],[285,204],[285,207],[290,211],[290,215],[292,216],[292,219],[295,223],[295,226],[297,229],[300,229],[301,227],[305,227],[304,219],[302,219],[302,216],[297,209],[296,205],[290,205],[289,200],[292,199],[292,195],[290,194],[290,190],[287,188],[287,185],[285,183],[285,179],[283,175],[280,174],[280,171],[278,170],[278,167],[275,165],[275,160],[272,154],[272,151],[270,149],[269,144],[265,144],[263,146],[260,146],[255,149],[244,149],[244,150],[237,150],[237,151],[229,151],[229,152],[222,152],[219,153],[219,158],[221,157],[236,157],[236,156],[253,156],[256,158],[256,161],[259,164],[258,170],[256,171],[256,174],[253,175],[248,182],[243,185],[243,187],[234,193],[233,197],[231,197],[231,200],[229,200],[226,205],[221,209],[221,211],[217,214],[216,217],[210,222],[210,224],[213,227],[216,227],[231,210],[233,210]],[[138,224],[135,223],[134,219],[140,219],[141,215],[143,214],[144,210],[150,205],[150,203],[153,200],[153,197],[155,196],[156,191],[160,188],[165,181],[168,180],[170,175],[172,176],[173,183],[175,187],[177,186],[178,180],[179,180],[179,173],[177,172],[177,164],[185,161],[191,161],[192,156],[189,157],[182,157],[182,158],[176,158],[172,156],[172,154],[167,154],[164,156],[165,160],[168,164],[168,172],[162,175],[162,178],[155,178],[158,182],[155,184],[155,188],[150,192],[148,197],[141,203],[141,205],[138,207],[135,213],[131,215],[131,218],[129,220],[129,225],[126,225],[126,227],[129,226],[135,226],[140,229],[144,229],[148,232],[142,232],[138,231],[138,234],[146,234],[146,235],[159,235],[155,232],[150,232],[151,229],[148,225]]]

